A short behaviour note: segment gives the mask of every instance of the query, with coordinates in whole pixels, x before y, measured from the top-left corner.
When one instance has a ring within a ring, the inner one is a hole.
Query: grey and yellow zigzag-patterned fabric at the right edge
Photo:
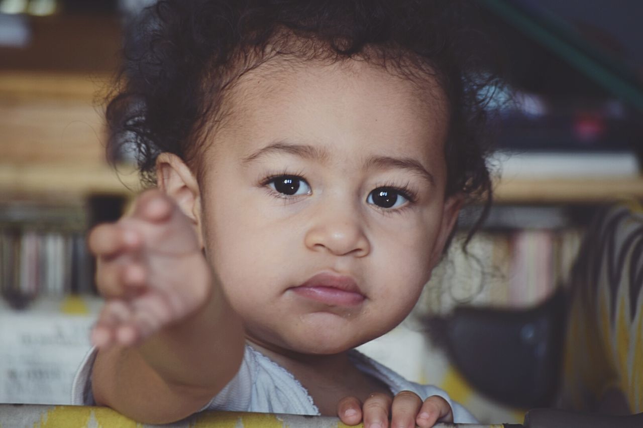
[[[595,410],[619,390],[643,412],[643,208],[604,211],[588,231],[572,274],[561,401]]]

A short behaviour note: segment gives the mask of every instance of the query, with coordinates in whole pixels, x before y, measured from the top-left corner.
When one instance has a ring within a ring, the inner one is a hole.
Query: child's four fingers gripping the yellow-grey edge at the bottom
[[[451,406],[439,395],[431,395],[424,402],[411,391],[401,391],[394,398],[371,394],[362,404],[356,397],[342,398],[338,416],[346,425],[364,422],[365,428],[421,428],[432,427],[437,422],[453,422]],[[390,424],[389,424],[390,416]]]

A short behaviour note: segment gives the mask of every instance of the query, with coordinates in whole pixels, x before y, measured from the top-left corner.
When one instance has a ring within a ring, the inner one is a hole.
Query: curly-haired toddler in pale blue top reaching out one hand
[[[415,305],[490,195],[488,74],[453,0],[161,1],[126,51],[111,144],[147,183],[89,246],[106,303],[74,404],[368,428],[475,422],[353,350]]]

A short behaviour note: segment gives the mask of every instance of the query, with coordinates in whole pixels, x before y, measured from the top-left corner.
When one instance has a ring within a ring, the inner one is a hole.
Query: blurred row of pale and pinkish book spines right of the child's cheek
[[[417,310],[445,315],[457,305],[526,308],[547,299],[557,287],[566,287],[583,226],[562,227],[556,218],[550,217],[555,227],[534,217],[535,226],[523,228],[512,227],[505,219],[507,227],[483,229],[466,251],[462,248],[466,233],[458,232],[434,269]],[[529,223],[526,218],[515,221]]]

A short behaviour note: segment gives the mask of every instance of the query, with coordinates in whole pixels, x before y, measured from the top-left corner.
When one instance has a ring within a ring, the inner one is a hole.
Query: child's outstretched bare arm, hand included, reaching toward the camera
[[[89,246],[107,299],[92,332],[96,402],[157,424],[201,409],[237,373],[244,336],[189,219],[146,192]]]

